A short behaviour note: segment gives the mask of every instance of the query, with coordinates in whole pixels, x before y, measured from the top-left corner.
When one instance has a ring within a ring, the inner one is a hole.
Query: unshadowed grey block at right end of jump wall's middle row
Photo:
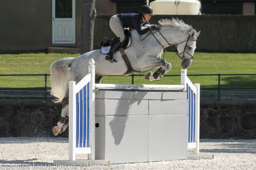
[[[187,99],[149,100],[148,115],[184,115],[188,114]]]

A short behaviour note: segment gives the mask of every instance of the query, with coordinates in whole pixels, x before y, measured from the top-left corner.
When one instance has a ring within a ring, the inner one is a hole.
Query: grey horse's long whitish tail
[[[73,57],[59,59],[50,66],[51,95],[55,96],[55,103],[61,102],[67,96],[68,82],[70,81],[70,65]]]

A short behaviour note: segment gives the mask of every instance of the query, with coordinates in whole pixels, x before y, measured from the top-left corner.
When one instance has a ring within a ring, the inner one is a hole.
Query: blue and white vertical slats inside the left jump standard
[[[89,83],[76,94],[76,147],[89,147]]]

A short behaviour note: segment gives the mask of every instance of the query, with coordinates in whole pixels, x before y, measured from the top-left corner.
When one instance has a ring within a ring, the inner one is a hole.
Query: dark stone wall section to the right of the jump
[[[200,136],[256,138],[256,102],[201,102]]]

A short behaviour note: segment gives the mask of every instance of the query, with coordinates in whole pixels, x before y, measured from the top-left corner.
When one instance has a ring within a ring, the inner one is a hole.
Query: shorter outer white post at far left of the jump
[[[69,160],[75,161],[76,160],[76,133],[73,130],[76,130],[76,92],[75,92],[76,82],[70,81],[69,82]]]

